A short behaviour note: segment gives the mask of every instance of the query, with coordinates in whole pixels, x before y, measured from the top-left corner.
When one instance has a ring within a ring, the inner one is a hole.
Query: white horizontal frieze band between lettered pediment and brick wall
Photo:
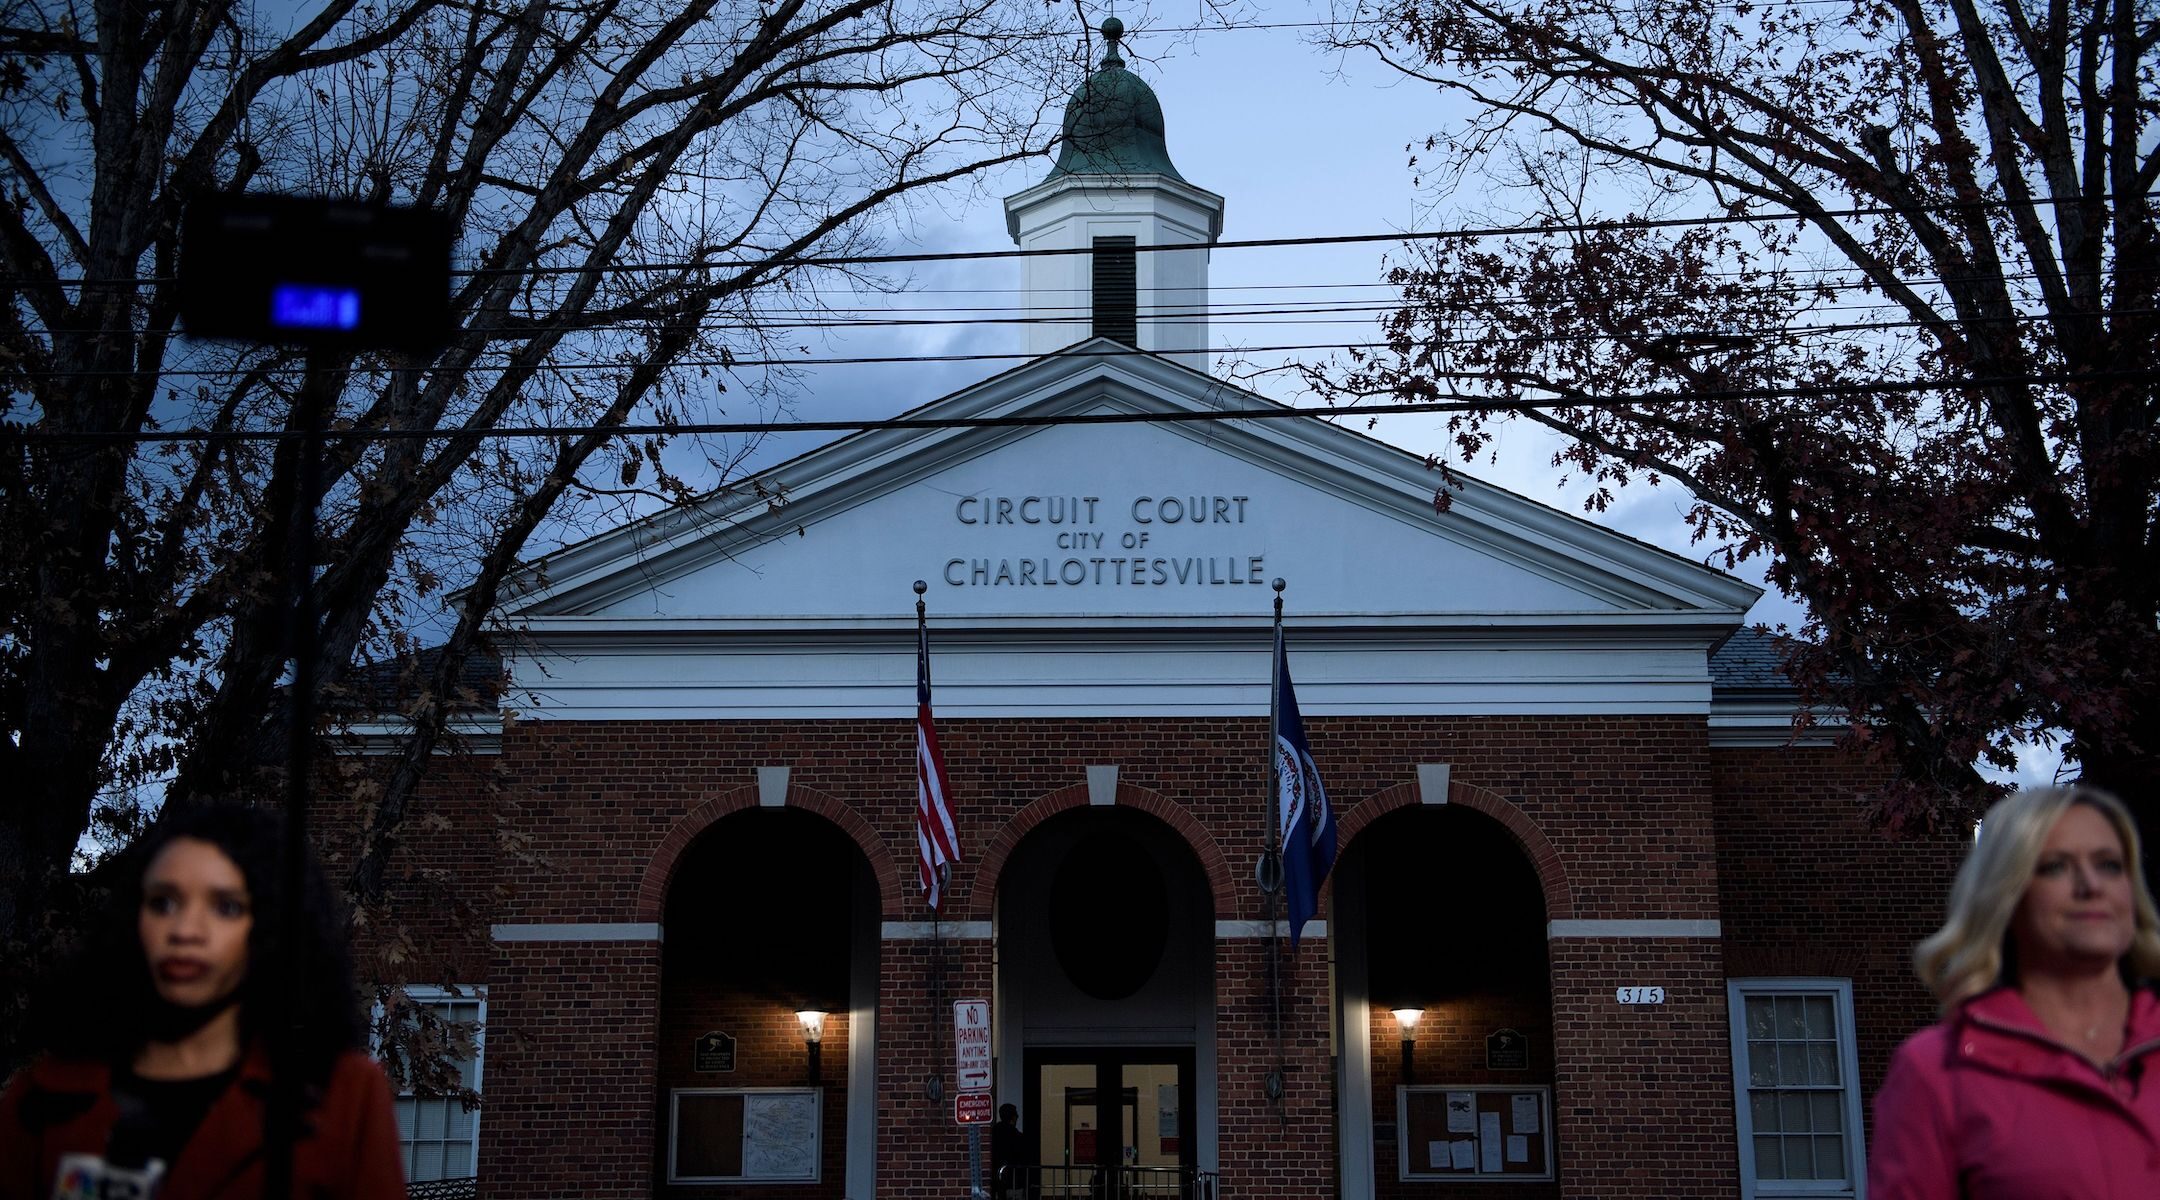
[[[1456,637],[1467,632],[1467,637]],[[1300,622],[1307,717],[1706,717],[1713,628],[1417,630]],[[1032,628],[940,632],[940,717],[1255,717],[1268,630]],[[806,637],[683,630],[531,637],[505,704],[531,721],[903,719],[909,630]]]

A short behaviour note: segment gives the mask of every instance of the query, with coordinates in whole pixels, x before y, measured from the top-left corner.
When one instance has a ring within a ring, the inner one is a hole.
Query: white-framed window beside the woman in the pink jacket
[[[1851,980],[1730,980],[1741,1196],[1866,1198]]]

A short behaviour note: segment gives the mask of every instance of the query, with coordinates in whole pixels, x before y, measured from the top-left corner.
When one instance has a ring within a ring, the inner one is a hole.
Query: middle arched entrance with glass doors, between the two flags
[[[1041,1196],[1186,1196],[1216,1170],[1214,902],[1171,827],[1054,816],[998,885],[1000,1103]]]

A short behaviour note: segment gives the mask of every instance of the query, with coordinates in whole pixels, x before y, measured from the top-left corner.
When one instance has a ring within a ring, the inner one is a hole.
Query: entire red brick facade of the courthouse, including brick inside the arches
[[[1722,922],[1722,937],[1553,937],[1542,993],[1469,997],[1421,1029],[1421,1083],[1553,1086],[1557,1181],[1406,1183],[1395,1178],[1395,1146],[1380,1144],[1382,1200],[1732,1196],[1728,978],[1849,978],[1868,1092],[1888,1049],[1929,1019],[1903,960],[1938,915],[1961,846],[1955,837],[1879,842],[1860,822],[1871,777],[1836,751],[1711,749],[1700,717],[1337,717],[1307,725],[1346,853],[1374,820],[1423,801],[1419,764],[1445,762],[1449,803],[1508,831],[1544,896],[1544,922]],[[1117,805],[1151,814],[1190,848],[1214,919],[1264,915],[1251,883],[1264,835],[1261,721],[948,719],[940,732],[966,853],[948,922],[994,919],[1000,870],[1015,848],[1052,816],[1089,807],[1089,766],[1117,766]],[[488,988],[484,1196],[847,1196],[845,1012],[829,1019],[823,1045],[819,1185],[667,1187],[667,1088],[801,1083],[793,1014],[741,995],[663,986],[659,941],[486,945],[486,926],[657,926],[685,850],[730,829],[730,814],[758,807],[760,766],[786,766],[786,805],[827,820],[862,850],[881,922],[920,922],[912,755],[907,721],[531,721],[503,734],[499,758],[436,775],[430,805],[456,835],[415,840],[402,859],[404,885],[415,898],[426,883],[456,900],[410,909],[421,913],[413,924],[419,963]],[[1434,904],[1445,898],[1445,881],[1434,881]],[[486,917],[443,917],[454,911]],[[1326,939],[1313,939],[1287,960],[1279,1055],[1266,941],[1214,943],[1218,1068],[1199,1088],[1216,1099],[1225,1198],[1337,1196],[1326,950]],[[996,993],[991,954],[981,937],[879,939],[879,1198],[963,1194],[946,1001]],[[1665,1004],[1614,999],[1614,988],[1650,984],[1665,988]],[[1529,1036],[1527,1071],[1486,1073],[1484,1036],[1499,1025]],[[708,1027],[739,1038],[732,1077],[687,1064],[691,1038]],[[1391,1127],[1400,1040],[1385,1008],[1372,1012],[1369,1040],[1374,1120]],[[1277,1062],[1285,1092],[1270,1101],[1266,1077]],[[929,1077],[944,1077],[940,1101],[927,1096]]]

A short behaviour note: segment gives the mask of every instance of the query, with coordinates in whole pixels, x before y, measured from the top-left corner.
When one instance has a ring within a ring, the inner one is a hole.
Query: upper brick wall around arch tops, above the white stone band
[[[1508,796],[1568,857],[1575,904],[1605,917],[1713,917],[1717,863],[1702,816],[1709,762],[1700,719],[1346,717],[1307,723],[1341,809],[1452,762],[1456,779]],[[1084,781],[1091,764],[1190,814],[1233,865],[1236,915],[1259,917],[1251,863],[1261,848],[1266,721],[1099,719],[940,721],[968,861],[955,909],[974,896],[985,844],[1039,796]],[[868,822],[870,857],[914,878],[912,721],[531,721],[503,738],[505,786],[525,807],[536,863],[505,865],[523,922],[657,919],[646,868],[698,805],[743,790],[758,766]],[[795,801],[791,801],[795,803]],[[592,837],[607,831],[605,840]],[[907,887],[888,919],[924,915]],[[639,913],[646,913],[639,917]]]

